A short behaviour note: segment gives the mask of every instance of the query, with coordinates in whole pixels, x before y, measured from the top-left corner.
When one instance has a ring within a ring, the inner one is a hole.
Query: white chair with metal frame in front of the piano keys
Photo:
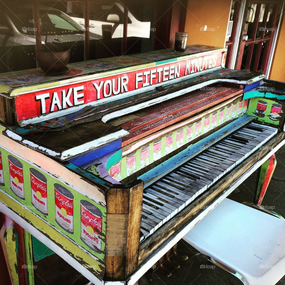
[[[200,252],[193,257],[227,270],[243,284],[276,284],[285,274],[285,220],[266,212],[226,198],[183,240]],[[187,261],[177,284],[183,284],[193,261]]]

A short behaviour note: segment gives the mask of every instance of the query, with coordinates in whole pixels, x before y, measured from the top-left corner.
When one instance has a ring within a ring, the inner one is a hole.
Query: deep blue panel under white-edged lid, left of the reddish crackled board
[[[87,151],[78,156],[72,157],[71,159],[68,160],[68,162],[75,164],[77,166],[82,166],[84,164],[87,164],[88,162],[91,162],[95,159],[98,159],[106,155],[107,153],[120,149],[121,146],[122,146],[122,138],[119,138],[118,140],[114,140],[99,148],[95,148],[91,151]]]

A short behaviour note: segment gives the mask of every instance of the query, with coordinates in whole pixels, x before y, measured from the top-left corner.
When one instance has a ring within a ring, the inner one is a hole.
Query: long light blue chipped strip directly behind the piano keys
[[[234,132],[235,130],[249,123],[253,119],[254,117],[248,115],[244,115],[238,118],[237,120],[233,121],[227,126],[224,126],[223,128],[219,129],[213,134],[210,134],[208,137],[205,137],[204,139],[200,140],[194,145],[191,145],[190,147],[186,148],[185,150],[181,151],[175,156],[172,156],[167,161],[159,164],[158,166],[154,167],[148,172],[145,172],[137,179],[141,179],[145,182],[144,188],[151,185],[159,178],[163,177],[167,173],[171,172],[178,166],[182,165],[183,163],[191,159],[193,156],[197,155],[197,153],[200,153],[202,149],[205,149],[205,147],[207,148],[213,145],[218,140],[221,140],[222,138],[226,137],[228,134]]]

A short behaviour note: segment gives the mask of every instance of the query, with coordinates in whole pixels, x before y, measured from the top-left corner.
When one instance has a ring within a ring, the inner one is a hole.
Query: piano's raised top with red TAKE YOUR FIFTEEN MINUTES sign
[[[2,74],[0,94],[15,97],[15,117],[25,126],[219,70],[225,58],[225,48],[196,45],[183,53],[158,50],[70,64],[69,72],[60,76],[32,69]]]

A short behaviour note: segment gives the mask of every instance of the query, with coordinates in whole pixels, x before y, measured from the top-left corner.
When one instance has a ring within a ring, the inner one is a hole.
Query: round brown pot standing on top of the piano
[[[59,51],[51,51],[42,49],[36,51],[37,62],[44,72],[61,72],[68,64],[70,50],[68,47],[62,46]]]

